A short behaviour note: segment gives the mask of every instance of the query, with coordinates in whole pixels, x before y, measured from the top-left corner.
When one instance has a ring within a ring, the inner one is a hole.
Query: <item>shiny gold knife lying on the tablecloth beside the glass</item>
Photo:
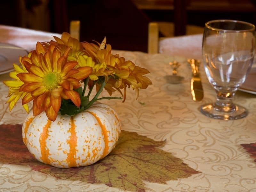
[[[188,59],[188,63],[192,68],[193,76],[191,78],[191,94],[194,101],[201,101],[204,98],[203,86],[199,73],[199,61],[195,59]]]

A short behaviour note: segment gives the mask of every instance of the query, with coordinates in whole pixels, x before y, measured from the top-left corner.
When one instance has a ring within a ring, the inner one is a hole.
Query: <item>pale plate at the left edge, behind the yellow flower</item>
[[[13,70],[13,63],[20,64],[19,56],[28,55],[24,48],[12,44],[0,43],[0,75]]]

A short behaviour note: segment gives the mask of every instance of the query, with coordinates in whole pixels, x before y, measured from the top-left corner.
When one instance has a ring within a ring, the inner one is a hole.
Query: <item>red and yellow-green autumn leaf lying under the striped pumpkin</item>
[[[110,187],[145,191],[144,181],[166,184],[199,173],[155,141],[135,132],[122,131],[114,150],[95,164],[61,169],[35,160],[23,144],[21,125],[0,125],[0,163],[29,165],[33,170],[65,180],[104,183]]]

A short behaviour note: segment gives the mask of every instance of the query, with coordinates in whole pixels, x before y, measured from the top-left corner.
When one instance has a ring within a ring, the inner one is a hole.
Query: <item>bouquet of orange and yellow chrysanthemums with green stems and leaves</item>
[[[33,100],[34,116],[45,111],[48,119],[55,121],[59,111],[61,115],[74,116],[97,100],[121,99],[111,97],[114,91],[121,93],[124,102],[126,88],[131,87],[137,99],[139,89],[152,84],[144,76],[149,73],[147,69],[111,53],[106,37],[101,44],[79,42],[68,33],[63,33],[61,39],[53,37],[55,41],[37,42],[35,50],[20,57],[21,66],[13,64],[13,80],[4,81],[9,87],[10,111],[21,99],[28,112],[28,102]],[[94,87],[97,92],[91,96]],[[110,96],[98,98],[103,88]]]

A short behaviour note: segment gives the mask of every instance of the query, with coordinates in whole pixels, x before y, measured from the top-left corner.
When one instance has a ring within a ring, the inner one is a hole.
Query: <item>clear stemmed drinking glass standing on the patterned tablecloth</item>
[[[200,107],[204,115],[229,120],[248,114],[247,109],[232,100],[252,67],[254,52],[255,26],[251,23],[236,20],[205,23],[202,45],[204,70],[217,92],[217,100]]]

